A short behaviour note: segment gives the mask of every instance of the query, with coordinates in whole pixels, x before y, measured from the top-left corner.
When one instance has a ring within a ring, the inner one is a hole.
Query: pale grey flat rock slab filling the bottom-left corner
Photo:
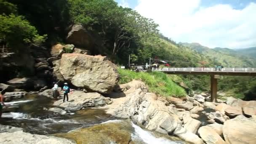
[[[3,144],[75,144],[69,139],[56,136],[43,136],[17,131],[15,133],[0,133]]]

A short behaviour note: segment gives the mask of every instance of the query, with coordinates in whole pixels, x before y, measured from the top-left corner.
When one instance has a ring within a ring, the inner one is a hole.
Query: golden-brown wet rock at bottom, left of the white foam
[[[125,122],[93,125],[89,128],[80,128],[69,133],[55,135],[75,139],[78,144],[133,144],[135,142],[131,137],[131,126]]]

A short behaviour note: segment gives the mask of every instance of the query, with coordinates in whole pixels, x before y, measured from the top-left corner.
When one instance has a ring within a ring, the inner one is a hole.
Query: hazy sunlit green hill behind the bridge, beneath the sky
[[[190,47],[192,50],[203,54],[212,59],[215,64],[221,64],[224,67],[256,67],[256,59],[248,54],[241,53],[241,51],[232,50],[229,48],[208,48],[199,43],[179,43]],[[251,51],[255,51],[253,49]],[[246,52],[246,50],[244,50]]]

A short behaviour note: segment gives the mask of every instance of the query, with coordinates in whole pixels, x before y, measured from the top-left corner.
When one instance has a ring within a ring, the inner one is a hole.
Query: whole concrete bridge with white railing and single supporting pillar
[[[256,68],[153,68],[152,71],[165,72],[170,75],[210,75],[212,102],[216,102],[217,99],[219,75],[256,76]]]

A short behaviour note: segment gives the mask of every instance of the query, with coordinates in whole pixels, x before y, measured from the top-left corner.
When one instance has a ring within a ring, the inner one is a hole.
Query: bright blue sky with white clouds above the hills
[[[154,19],[177,43],[209,48],[256,46],[256,0],[116,0]]]

